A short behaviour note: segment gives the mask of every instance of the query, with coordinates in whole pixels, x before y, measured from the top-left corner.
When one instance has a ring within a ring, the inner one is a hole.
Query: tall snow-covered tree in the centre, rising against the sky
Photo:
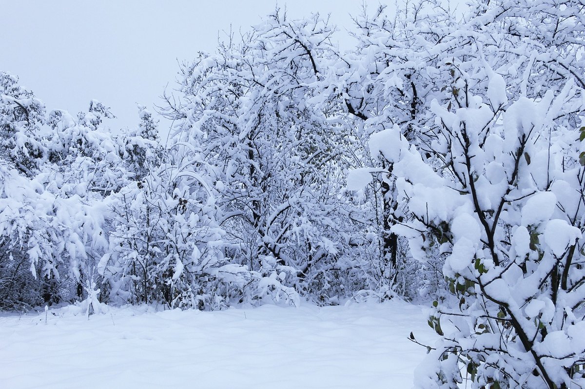
[[[288,285],[319,302],[376,288],[355,266],[356,247],[369,243],[343,191],[355,136],[332,33],[318,15],[277,11],[242,43],[185,66],[167,109],[174,142],[195,150],[191,163],[218,201],[226,256],[267,277],[288,273]]]

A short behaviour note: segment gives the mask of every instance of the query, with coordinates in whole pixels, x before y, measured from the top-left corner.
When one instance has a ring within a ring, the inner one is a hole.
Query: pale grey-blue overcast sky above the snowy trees
[[[375,8],[378,1],[368,1]],[[111,106],[118,119],[111,128],[135,126],[136,103],[152,109],[168,83],[173,87],[177,60],[199,50],[214,51],[218,33],[246,30],[274,10],[274,0],[254,1],[4,1],[0,70],[20,77],[48,109],[71,113],[90,99]],[[283,1],[279,1],[284,6]],[[294,18],[331,13],[343,30],[358,0],[294,0]],[[340,34],[343,36],[344,34]],[[225,35],[223,35],[225,36]]]

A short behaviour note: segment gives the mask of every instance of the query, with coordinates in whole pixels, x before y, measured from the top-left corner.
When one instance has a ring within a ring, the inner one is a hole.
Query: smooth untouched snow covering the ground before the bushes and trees
[[[218,312],[78,307],[0,317],[0,388],[408,388],[431,341],[420,307]]]

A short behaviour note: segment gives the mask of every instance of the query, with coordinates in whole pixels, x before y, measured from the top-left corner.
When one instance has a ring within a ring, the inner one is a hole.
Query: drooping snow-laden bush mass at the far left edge
[[[112,115],[92,101],[78,119],[66,111],[45,117],[16,77],[0,73],[0,80],[0,305],[81,298],[108,247],[101,201],[128,181],[116,140],[101,127]],[[71,293],[71,283],[81,293]]]

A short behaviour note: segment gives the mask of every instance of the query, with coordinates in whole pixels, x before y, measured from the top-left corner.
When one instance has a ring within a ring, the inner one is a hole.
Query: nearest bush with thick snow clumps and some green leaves
[[[457,298],[434,304],[429,325],[443,341],[429,359],[440,363],[419,384],[455,387],[462,365],[473,387],[583,384],[585,170],[574,127],[582,118],[571,116],[583,109],[583,89],[568,78],[556,97],[508,102],[503,77],[481,65],[483,76],[452,64],[453,99],[432,102],[428,148],[398,129],[379,135],[408,217],[393,230],[421,259],[440,245]],[[472,93],[478,78],[487,82],[483,98]]]

